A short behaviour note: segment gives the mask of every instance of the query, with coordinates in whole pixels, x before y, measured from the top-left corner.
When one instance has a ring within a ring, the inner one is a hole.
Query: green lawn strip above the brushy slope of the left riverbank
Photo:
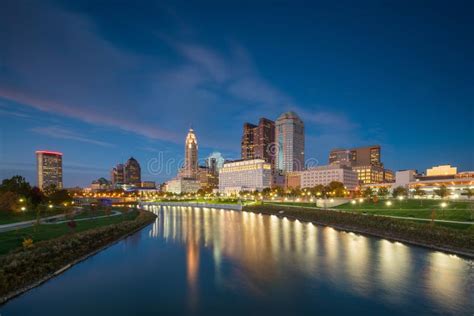
[[[91,219],[87,221],[76,222],[75,232],[81,232],[101,226],[117,224],[123,221],[133,220],[137,217],[138,211],[124,213],[122,215],[108,218]],[[0,233],[0,255],[9,252],[12,249],[22,246],[25,238],[33,239],[33,242],[48,240],[71,233],[67,223],[62,224],[42,224],[38,227],[28,227],[15,231]]]

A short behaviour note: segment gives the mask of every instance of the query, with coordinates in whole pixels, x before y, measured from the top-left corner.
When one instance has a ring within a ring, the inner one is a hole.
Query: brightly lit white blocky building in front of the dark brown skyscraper
[[[272,166],[263,159],[225,163],[219,171],[219,192],[261,191],[272,183]]]

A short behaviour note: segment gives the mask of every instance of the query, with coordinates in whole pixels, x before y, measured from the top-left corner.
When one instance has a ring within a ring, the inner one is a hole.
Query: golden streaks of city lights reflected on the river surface
[[[420,295],[417,291],[437,311],[464,310],[472,303],[468,260],[276,216],[208,208],[149,209],[158,215],[149,236],[186,247],[191,305],[198,301],[200,247],[212,253],[218,286],[245,288],[252,295],[265,296],[275,280],[284,282],[288,292],[304,280],[396,306],[408,304]],[[414,256],[413,251],[423,255]],[[223,272],[225,261],[232,262],[231,272]]]

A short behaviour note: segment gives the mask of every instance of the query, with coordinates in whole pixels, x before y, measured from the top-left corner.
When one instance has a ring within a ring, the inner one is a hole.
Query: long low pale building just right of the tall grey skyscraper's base
[[[357,173],[345,165],[318,166],[300,171],[301,188],[328,185],[333,181],[341,182],[348,190],[355,190],[359,184]]]

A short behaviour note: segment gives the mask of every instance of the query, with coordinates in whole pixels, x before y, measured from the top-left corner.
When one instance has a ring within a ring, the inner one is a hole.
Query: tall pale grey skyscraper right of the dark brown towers
[[[275,123],[275,167],[284,172],[304,169],[304,123],[295,112],[280,115]]]

